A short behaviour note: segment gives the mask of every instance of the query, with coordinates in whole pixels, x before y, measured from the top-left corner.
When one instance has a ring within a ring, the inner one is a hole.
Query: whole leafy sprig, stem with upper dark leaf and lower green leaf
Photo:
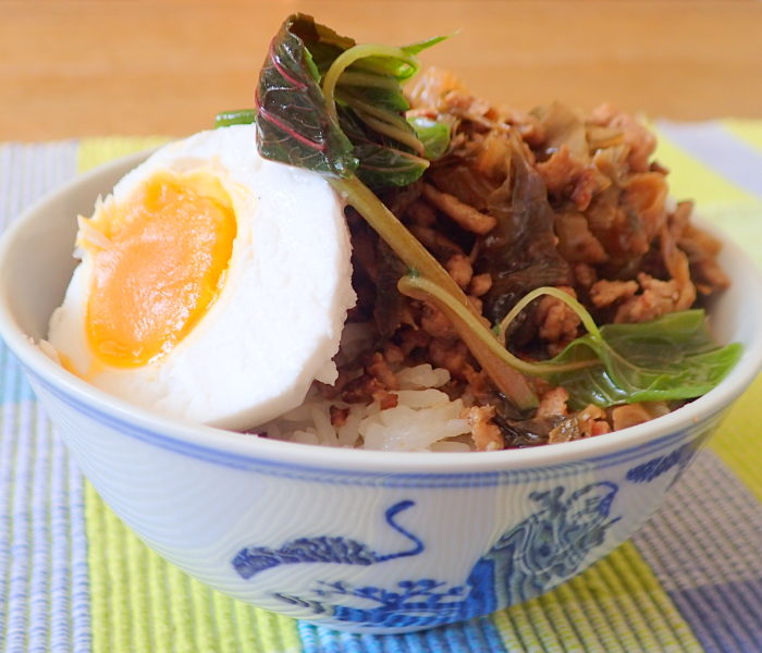
[[[552,287],[529,293],[505,316],[500,335],[474,310],[450,274],[374,194],[418,180],[442,156],[450,128],[405,118],[402,84],[418,72],[416,56],[444,37],[405,47],[357,45],[310,16],[286,19],[272,39],[255,110],[228,112],[218,126],[251,122],[262,157],[324,175],[408,267],[401,293],[429,301],[458,335],[497,390],[519,410],[537,406],[526,375],[564,385],[575,406],[690,398],[716,385],[740,356],[717,346],[702,311],[639,324],[599,326],[578,301]],[[540,362],[512,354],[502,338],[533,299],[552,295],[580,317],[588,333]]]

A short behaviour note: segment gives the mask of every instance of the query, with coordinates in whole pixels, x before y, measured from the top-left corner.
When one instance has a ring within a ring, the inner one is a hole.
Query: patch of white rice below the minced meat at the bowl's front
[[[302,406],[263,424],[268,438],[304,444],[394,452],[467,452],[468,421],[460,418],[462,399],[437,390],[450,381],[450,372],[429,364],[396,373],[400,390],[394,408],[381,410],[378,402],[368,406],[325,399],[310,393]],[[342,427],[331,423],[331,406],[347,408]],[[258,429],[260,430],[260,429]]]

